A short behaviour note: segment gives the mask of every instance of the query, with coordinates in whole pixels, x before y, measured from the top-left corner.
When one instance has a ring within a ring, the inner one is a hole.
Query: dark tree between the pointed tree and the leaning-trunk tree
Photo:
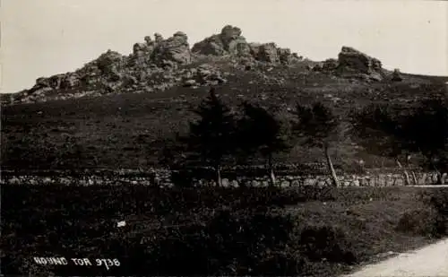
[[[273,154],[290,148],[282,137],[282,126],[265,108],[243,103],[243,117],[238,121],[239,149],[245,154],[260,153],[267,161],[271,186],[276,179],[273,170]]]

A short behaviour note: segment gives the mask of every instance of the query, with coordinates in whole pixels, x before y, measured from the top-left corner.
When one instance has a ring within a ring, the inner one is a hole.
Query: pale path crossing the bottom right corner
[[[378,264],[366,265],[345,277],[448,276],[448,238],[435,244],[397,255]]]

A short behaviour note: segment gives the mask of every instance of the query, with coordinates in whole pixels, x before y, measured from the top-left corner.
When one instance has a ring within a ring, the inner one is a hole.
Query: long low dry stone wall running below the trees
[[[435,184],[437,175],[435,172],[418,172],[415,173],[417,185]],[[444,182],[448,182],[448,175],[444,173]],[[365,175],[340,175],[340,186],[404,186],[405,177],[398,173],[377,173]],[[413,185],[413,177],[410,177]],[[228,178],[225,175],[222,179],[223,186],[269,186],[268,177],[235,177]],[[285,175],[277,177],[278,186],[327,186],[332,184],[332,179],[329,176],[297,176]],[[110,175],[13,175],[4,174],[0,179],[0,184],[11,185],[143,185],[143,186],[174,186],[171,180],[171,172],[168,170],[153,171],[152,174],[145,174],[145,176],[133,174],[116,174]],[[210,179],[193,179],[194,186],[214,186],[214,181]]]

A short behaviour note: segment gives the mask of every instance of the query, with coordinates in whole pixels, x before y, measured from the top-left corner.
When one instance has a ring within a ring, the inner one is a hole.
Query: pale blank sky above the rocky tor
[[[226,24],[314,60],[342,46],[389,69],[448,75],[448,3],[418,0],[1,0],[1,91],[81,67],[108,48],[129,54],[154,32],[190,45]]]

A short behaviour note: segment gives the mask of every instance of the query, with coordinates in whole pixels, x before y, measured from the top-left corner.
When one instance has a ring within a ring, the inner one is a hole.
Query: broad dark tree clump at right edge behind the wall
[[[370,146],[367,149],[383,149],[380,153],[394,157],[421,153],[426,158],[424,166],[435,169],[437,183],[443,183],[439,169],[446,168],[448,161],[446,98],[423,100],[417,108],[406,108],[405,112],[390,107],[369,106],[354,115],[351,117],[352,124],[361,137],[361,143]],[[375,139],[376,142],[373,141]],[[401,166],[400,162],[397,163]]]

